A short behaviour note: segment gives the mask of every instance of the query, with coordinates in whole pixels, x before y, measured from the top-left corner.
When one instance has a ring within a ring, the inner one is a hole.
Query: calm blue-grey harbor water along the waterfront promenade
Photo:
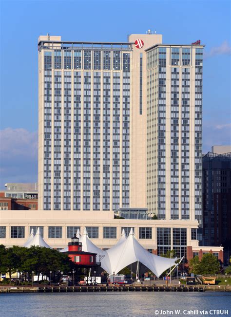
[[[0,294],[0,316],[231,316],[231,293]]]

